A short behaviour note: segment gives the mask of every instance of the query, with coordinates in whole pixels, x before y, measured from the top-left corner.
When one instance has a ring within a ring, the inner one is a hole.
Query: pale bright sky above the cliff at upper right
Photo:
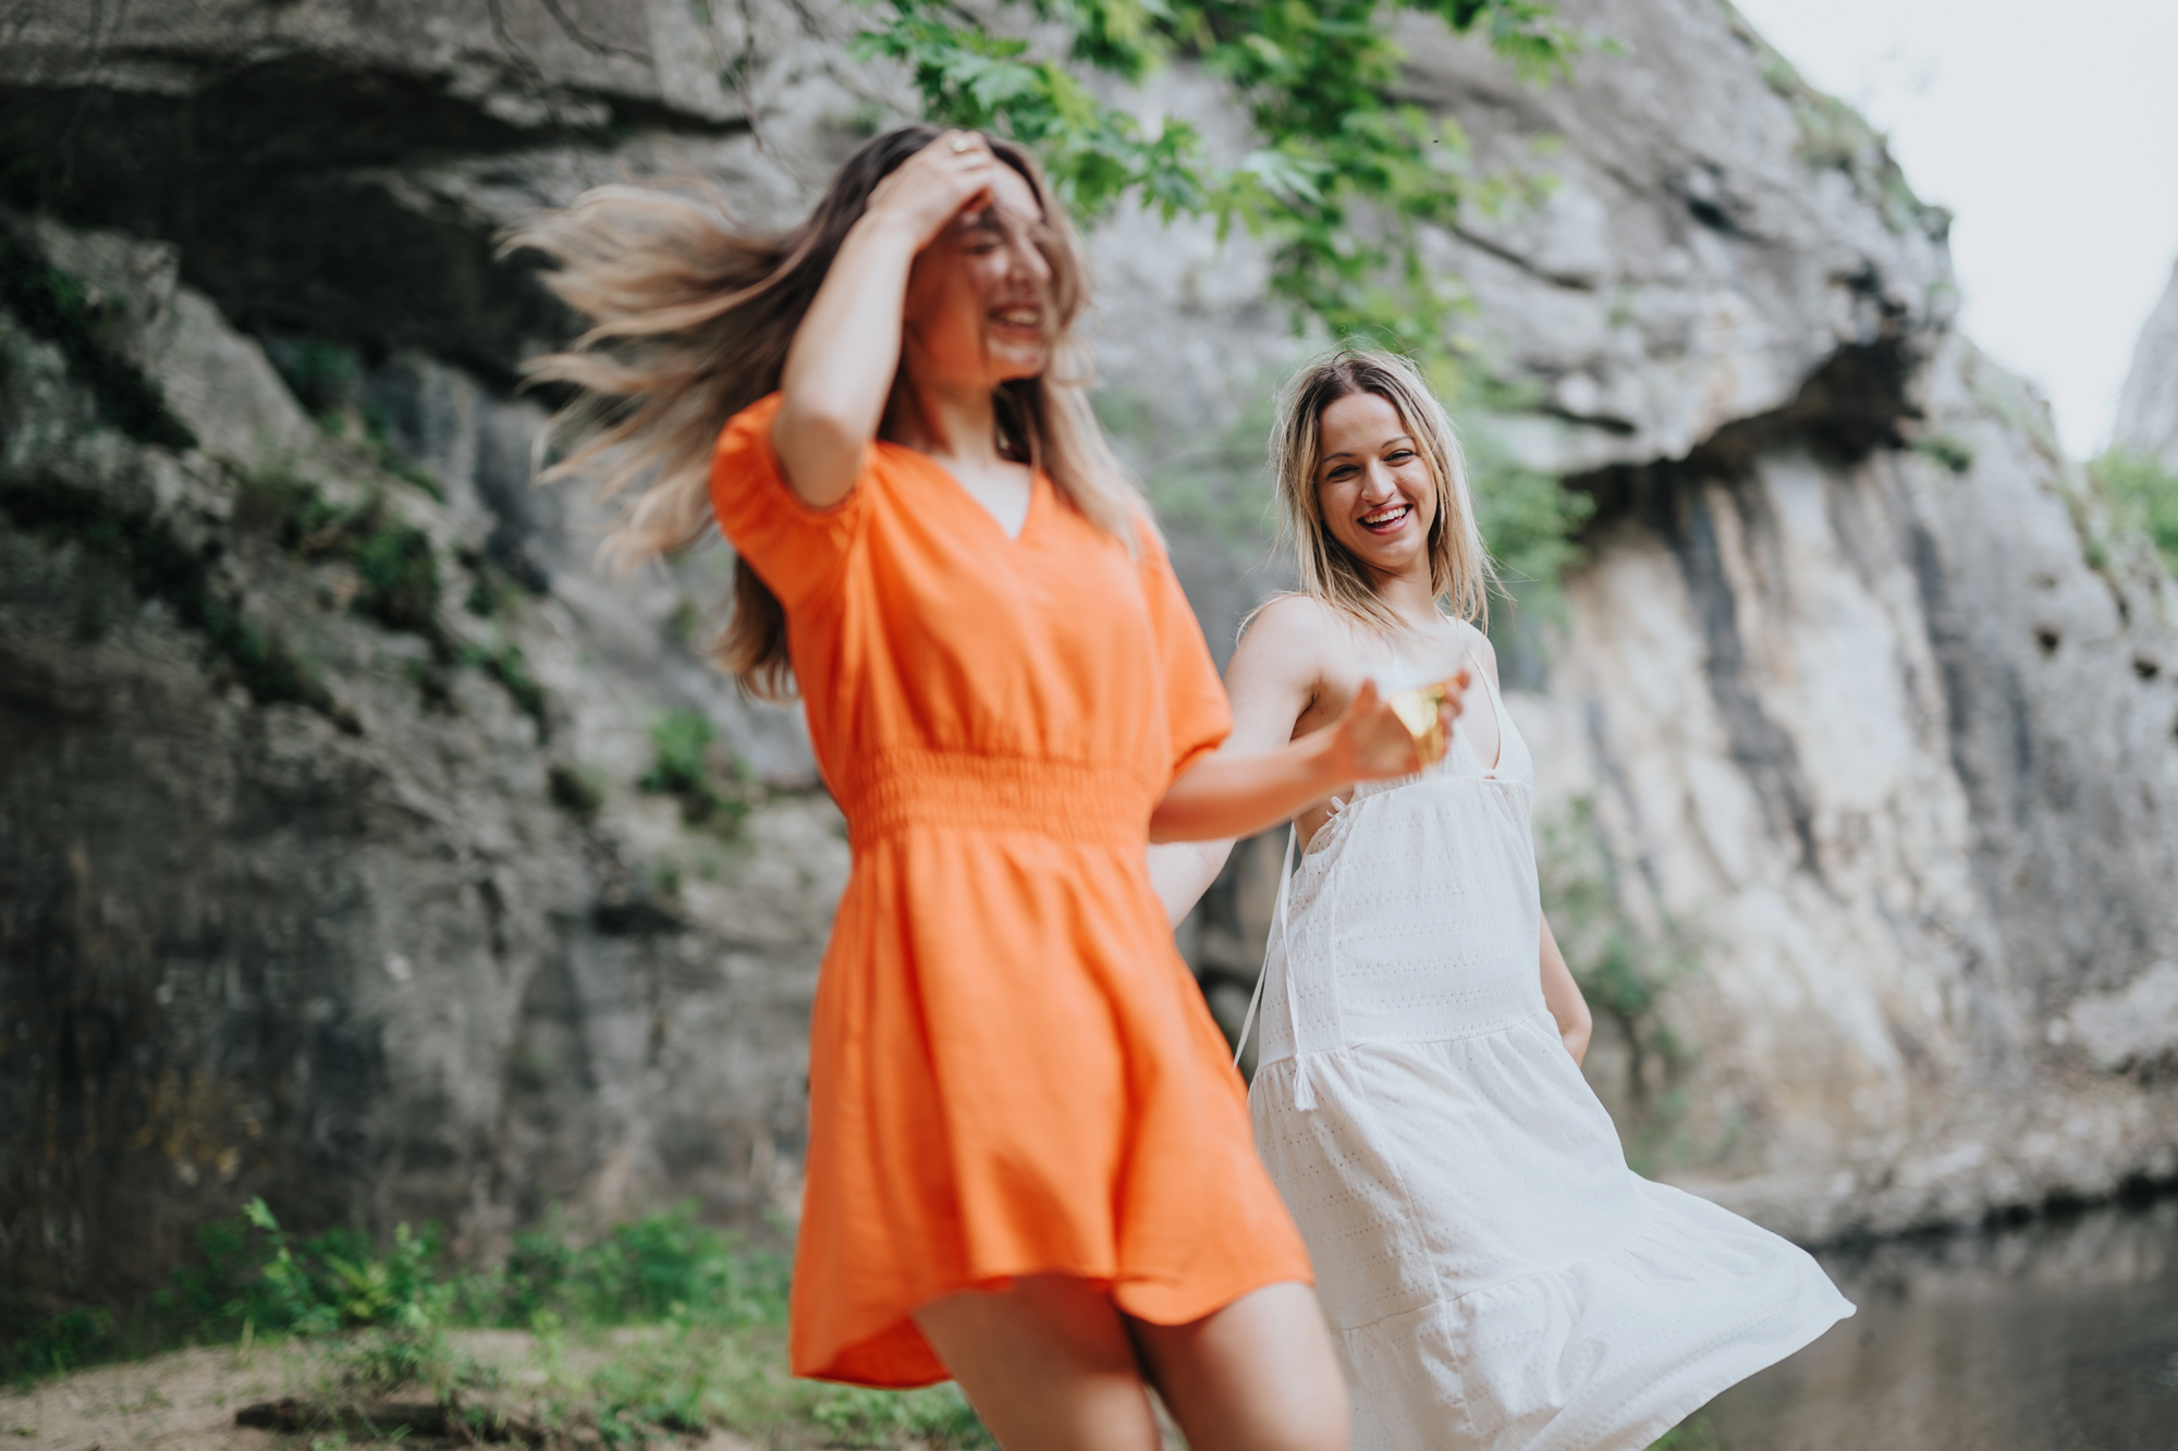
[[[2178,259],[2178,0],[1738,0],[1956,214],[1967,333],[2076,455]]]

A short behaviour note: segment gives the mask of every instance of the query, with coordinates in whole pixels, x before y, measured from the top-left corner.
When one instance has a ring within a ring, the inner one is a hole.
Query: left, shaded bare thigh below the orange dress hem
[[[1126,1320],[1096,1285],[1024,1275],[932,1301],[915,1325],[1006,1451],[1157,1451]]]

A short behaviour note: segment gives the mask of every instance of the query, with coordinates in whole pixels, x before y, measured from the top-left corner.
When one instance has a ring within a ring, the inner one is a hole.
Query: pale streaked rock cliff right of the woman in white
[[[1433,70],[1485,146],[1566,137],[1455,246],[1546,390],[1516,442],[1599,503],[1512,706],[1538,810],[1679,946],[1599,1089],[1801,1237],[2169,1176],[2169,577],[1951,331],[1945,218],[1858,118],[1725,7],[1568,9],[1625,44],[1579,85]]]

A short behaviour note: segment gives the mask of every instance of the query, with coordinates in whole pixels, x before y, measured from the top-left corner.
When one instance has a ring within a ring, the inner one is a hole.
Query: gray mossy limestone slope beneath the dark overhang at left
[[[35,237],[198,447],[113,427],[0,314],[9,1283],[157,1283],[250,1194],[477,1255],[551,1207],[791,1214],[847,843],[797,717],[688,649],[717,577],[590,573],[595,512],[529,492],[529,403],[390,359],[396,473],[172,248]],[[423,608],[388,558],[429,560]],[[717,723],[743,819],[640,789],[671,710]]]

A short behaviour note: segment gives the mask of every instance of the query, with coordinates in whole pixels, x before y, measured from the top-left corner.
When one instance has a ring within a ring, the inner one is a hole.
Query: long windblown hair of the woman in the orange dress
[[[810,216],[778,235],[736,227],[710,192],[695,198],[664,185],[612,185],[503,240],[501,255],[538,251],[555,261],[544,283],[592,322],[527,373],[575,390],[547,434],[573,447],[540,479],[603,475],[599,492],[621,499],[601,547],[608,562],[625,569],[708,538],[719,429],[778,390],[795,329],[869,194],[939,135],[934,126],[900,126],[867,142]],[[1087,305],[1080,242],[1035,157],[1000,137],[984,142],[1043,205],[1032,244],[1052,275],[1043,314],[1052,362],[1039,377],[998,390],[1000,447],[1043,468],[1082,516],[1133,549],[1148,510],[1089,410],[1089,353],[1076,336]],[[786,612],[738,558],[714,654],[749,693],[793,693]]]

